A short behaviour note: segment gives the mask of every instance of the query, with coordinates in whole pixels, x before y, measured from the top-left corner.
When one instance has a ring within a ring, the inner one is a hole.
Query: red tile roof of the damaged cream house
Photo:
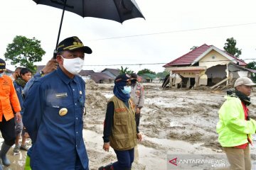
[[[197,47],[196,49],[186,53],[185,55],[178,57],[176,60],[165,64],[163,67],[190,66],[194,60],[196,60],[200,55],[202,55],[203,52],[206,52],[206,50],[208,50],[210,47],[213,47],[213,45],[203,44],[200,47]],[[220,51],[225,52],[223,50],[220,50]],[[234,60],[239,62],[240,65],[246,65],[245,62],[243,62],[242,60],[239,60],[237,57],[234,57],[233,55],[228,54],[228,52],[225,52],[225,53],[230,57],[233,57]]]

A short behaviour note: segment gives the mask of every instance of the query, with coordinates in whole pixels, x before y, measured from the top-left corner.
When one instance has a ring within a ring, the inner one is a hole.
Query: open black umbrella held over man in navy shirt
[[[36,4],[53,6],[63,9],[60,20],[56,50],[60,38],[60,30],[65,11],[70,11],[82,17],[103,18],[123,23],[132,18],[144,18],[135,0],[33,0]]]

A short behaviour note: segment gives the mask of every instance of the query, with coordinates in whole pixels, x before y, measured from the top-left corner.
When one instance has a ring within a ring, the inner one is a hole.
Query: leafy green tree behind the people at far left
[[[41,41],[36,38],[26,38],[25,36],[17,35],[13,42],[7,45],[4,57],[6,60],[11,60],[11,64],[19,64],[21,67],[31,69],[36,72],[34,62],[41,62],[43,55],[46,52],[41,48]]]

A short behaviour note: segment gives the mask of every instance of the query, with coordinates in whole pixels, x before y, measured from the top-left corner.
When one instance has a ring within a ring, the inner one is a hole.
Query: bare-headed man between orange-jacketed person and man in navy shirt
[[[14,81],[14,88],[16,90],[18,101],[21,104],[21,116],[23,115],[23,101],[24,101],[24,95],[23,95],[23,88],[26,85],[26,83],[31,79],[32,72],[30,69],[22,68],[20,71],[20,76],[18,79]],[[28,150],[28,147],[26,146],[26,138],[27,138],[27,132],[26,129],[23,127],[22,120],[18,123],[15,121],[15,131],[16,131],[16,141],[15,141],[15,147],[14,147],[14,154],[18,154],[20,152],[20,149]],[[22,137],[21,145],[19,143],[20,137]]]

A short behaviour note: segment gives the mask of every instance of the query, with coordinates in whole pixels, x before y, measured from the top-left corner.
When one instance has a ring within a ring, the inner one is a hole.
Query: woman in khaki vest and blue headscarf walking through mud
[[[117,154],[117,162],[101,166],[99,170],[132,169],[134,147],[137,140],[142,140],[142,134],[135,122],[135,106],[129,95],[130,85],[128,74],[121,74],[114,79],[114,96],[107,103],[103,149],[108,152],[111,146]]]

